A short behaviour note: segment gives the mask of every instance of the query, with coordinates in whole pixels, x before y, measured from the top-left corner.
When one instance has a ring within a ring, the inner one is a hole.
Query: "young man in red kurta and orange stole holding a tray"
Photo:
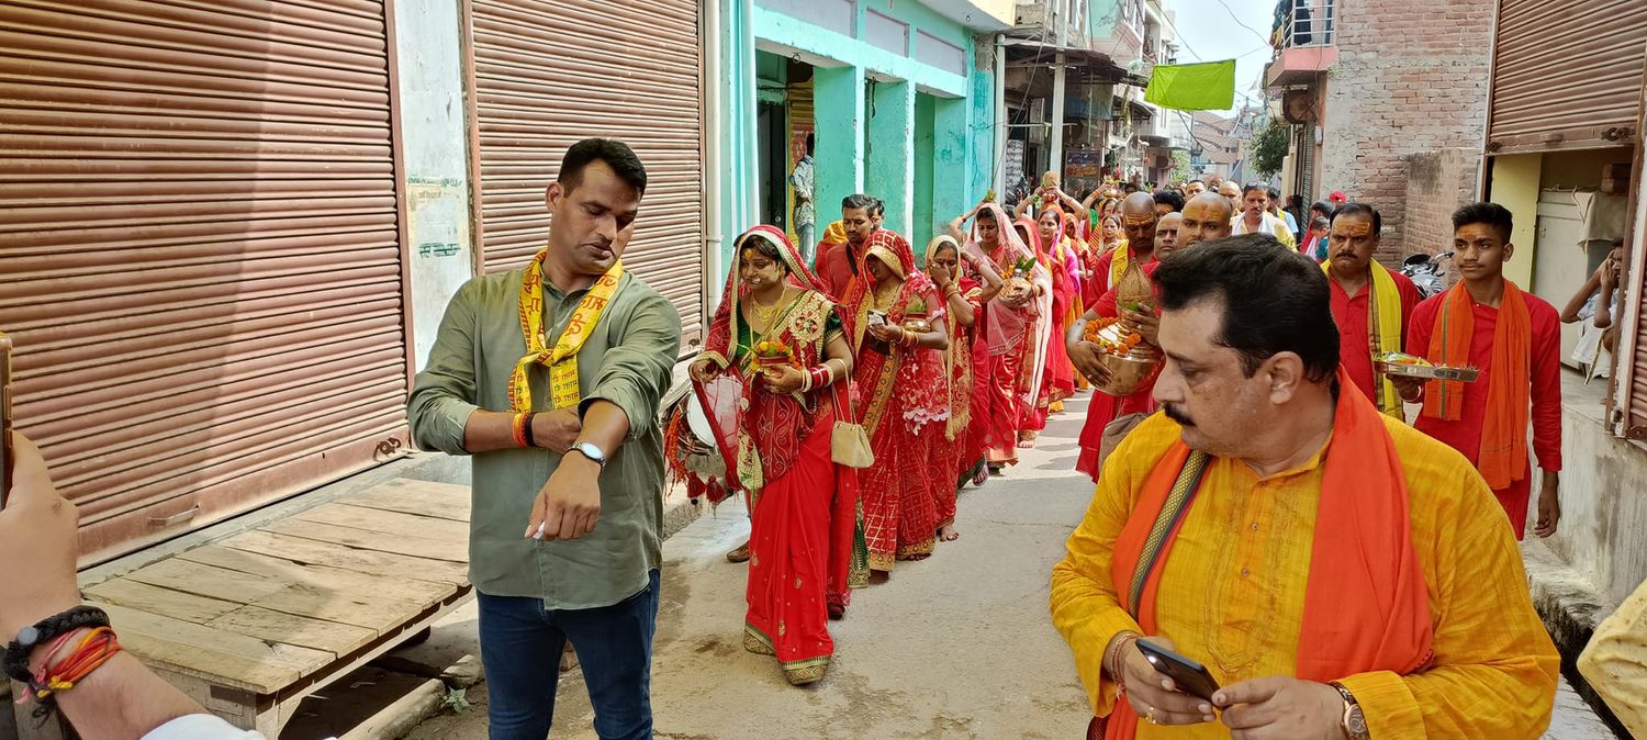
[[[1515,539],[1527,531],[1532,465],[1527,427],[1543,481],[1533,534],[1555,534],[1561,519],[1561,318],[1555,307],[1504,279],[1510,211],[1471,203],[1453,214],[1458,285],[1413,310],[1407,353],[1435,364],[1474,366],[1474,382],[1395,381],[1402,399],[1423,402],[1420,432],[1464,453],[1510,516]],[[1528,414],[1528,409],[1532,414]]]

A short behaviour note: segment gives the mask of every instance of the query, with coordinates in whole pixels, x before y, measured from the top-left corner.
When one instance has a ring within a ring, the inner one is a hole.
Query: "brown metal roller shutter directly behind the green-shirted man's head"
[[[703,119],[695,0],[473,0],[479,229],[486,272],[525,264],[548,234],[544,188],[588,137],[619,138],[647,171],[624,264],[703,323]],[[682,344],[685,346],[685,344]]]

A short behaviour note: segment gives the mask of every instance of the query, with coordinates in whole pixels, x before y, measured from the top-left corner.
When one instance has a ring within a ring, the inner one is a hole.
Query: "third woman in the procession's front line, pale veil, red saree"
[[[934,440],[929,458],[929,478],[932,494],[937,501],[937,539],[950,542],[960,537],[955,531],[955,494],[960,486],[972,478],[977,465],[983,461],[983,447],[973,427],[982,427],[982,419],[973,424],[973,389],[980,369],[977,363],[980,353],[987,353],[977,331],[983,318],[983,303],[1001,292],[1001,277],[983,267],[980,259],[960,252],[955,237],[939,236],[927,244],[926,272],[932,285],[944,297],[944,310],[949,315],[949,349],[944,351],[944,374],[949,377],[949,422],[944,432]],[[972,274],[983,280],[973,280],[963,272],[962,262]],[[980,349],[982,348],[982,349]]]

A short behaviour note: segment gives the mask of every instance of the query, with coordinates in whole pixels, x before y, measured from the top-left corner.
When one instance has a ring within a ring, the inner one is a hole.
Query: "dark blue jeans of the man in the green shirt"
[[[479,595],[491,740],[544,740],[555,720],[560,651],[578,651],[601,740],[652,737],[657,570],[611,607],[545,610],[542,598]]]

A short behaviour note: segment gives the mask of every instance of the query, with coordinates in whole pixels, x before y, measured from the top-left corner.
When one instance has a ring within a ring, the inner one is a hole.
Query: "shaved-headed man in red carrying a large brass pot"
[[[1155,198],[1151,198],[1150,193],[1133,193],[1122,201],[1122,227],[1127,231],[1127,241],[1117,246],[1110,254],[1099,257],[1099,264],[1092,275],[1092,280],[1097,280],[1099,285],[1099,303],[1082,315],[1080,321],[1075,321],[1066,331],[1064,348],[1069,349],[1071,363],[1074,363],[1077,372],[1095,384],[1102,384],[1108,377],[1103,372],[1103,368],[1097,363],[1099,348],[1085,341],[1087,321],[1117,315],[1113,295],[1115,287],[1120,285],[1122,275],[1127,274],[1130,265],[1136,264],[1145,270],[1145,274],[1155,269],[1155,237],[1158,222],[1159,219],[1155,211]],[[1107,313],[1100,313],[1099,307],[1102,305],[1108,305],[1110,310]],[[1138,316],[1130,311],[1128,315]],[[1150,318],[1153,320],[1155,316],[1151,315]],[[1135,410],[1143,412],[1151,405],[1148,387],[1127,397],[1113,397],[1103,392],[1095,392],[1092,396],[1092,402],[1087,405],[1087,422],[1080,429],[1080,458],[1075,461],[1075,470],[1080,470],[1097,480],[1099,443],[1103,440],[1103,427],[1122,414],[1131,414]]]

